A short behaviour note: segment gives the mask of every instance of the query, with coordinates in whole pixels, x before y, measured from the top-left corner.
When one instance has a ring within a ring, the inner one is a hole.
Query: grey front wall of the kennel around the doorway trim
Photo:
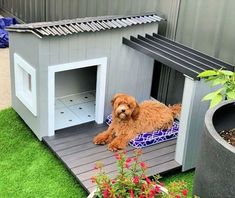
[[[139,101],[150,97],[153,59],[122,44],[122,37],[158,31],[158,24],[82,33],[61,37],[45,37],[40,42],[40,131],[47,135],[48,126],[48,67],[94,58],[107,57],[105,116],[110,114],[110,100],[115,93],[127,92]]]

